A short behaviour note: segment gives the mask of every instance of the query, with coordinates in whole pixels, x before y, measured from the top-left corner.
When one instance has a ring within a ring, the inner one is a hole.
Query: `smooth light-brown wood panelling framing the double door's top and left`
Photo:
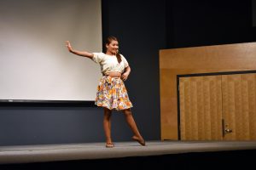
[[[177,75],[256,70],[256,42],[160,50],[161,139],[177,139]]]

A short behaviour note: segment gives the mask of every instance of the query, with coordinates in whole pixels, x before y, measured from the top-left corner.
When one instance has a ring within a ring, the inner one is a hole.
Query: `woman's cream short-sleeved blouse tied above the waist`
[[[108,55],[104,53],[92,53],[92,60],[101,65],[102,74],[108,75],[109,72],[117,71],[124,72],[125,68],[129,66],[125,57],[121,55],[122,61],[119,63],[115,55]]]

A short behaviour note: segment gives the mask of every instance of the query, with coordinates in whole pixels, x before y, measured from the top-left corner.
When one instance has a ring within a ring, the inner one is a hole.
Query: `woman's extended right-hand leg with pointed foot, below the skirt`
[[[132,137],[132,139],[137,140],[137,142],[142,145],[145,145],[145,141],[142,135],[139,133],[136,122],[134,121],[133,116],[131,115],[131,109],[126,109],[123,112],[125,115],[126,122],[131,127],[131,130],[134,133],[134,136]]]

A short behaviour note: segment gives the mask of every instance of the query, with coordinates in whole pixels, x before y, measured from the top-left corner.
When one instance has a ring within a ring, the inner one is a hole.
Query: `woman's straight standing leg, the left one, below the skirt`
[[[106,146],[113,147],[112,139],[111,139],[111,114],[112,111],[108,108],[104,108],[104,119],[103,119],[103,127],[106,135]]]

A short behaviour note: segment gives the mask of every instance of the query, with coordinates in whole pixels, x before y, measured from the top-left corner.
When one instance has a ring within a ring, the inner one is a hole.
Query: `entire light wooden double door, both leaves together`
[[[256,140],[256,74],[179,78],[182,140]]]

